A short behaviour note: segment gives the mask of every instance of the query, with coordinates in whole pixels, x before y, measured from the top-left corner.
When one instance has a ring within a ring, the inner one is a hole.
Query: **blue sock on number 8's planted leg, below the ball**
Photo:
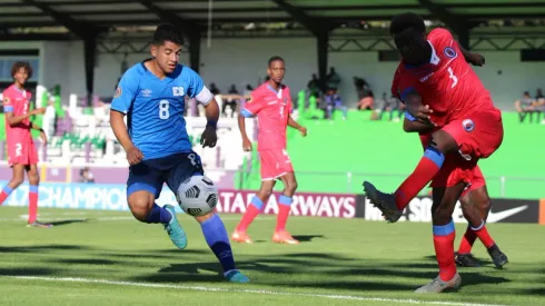
[[[218,258],[224,273],[235,269],[235,258],[232,258],[231,245],[225,229],[224,221],[218,215],[200,224],[202,234],[210,249]]]

